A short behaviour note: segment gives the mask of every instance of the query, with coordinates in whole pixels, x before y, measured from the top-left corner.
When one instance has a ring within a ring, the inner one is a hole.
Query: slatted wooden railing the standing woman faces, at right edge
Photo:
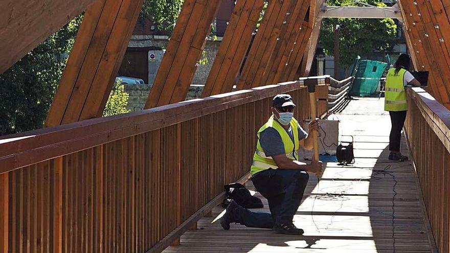
[[[408,90],[405,124],[439,252],[450,252],[450,110],[421,88]]]

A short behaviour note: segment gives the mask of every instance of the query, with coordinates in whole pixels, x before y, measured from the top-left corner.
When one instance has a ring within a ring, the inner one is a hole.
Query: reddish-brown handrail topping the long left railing
[[[266,85],[194,99],[138,112],[85,120],[0,137],[0,174],[100,144],[174,125],[278,93],[288,93],[303,80]],[[277,87],[276,89],[274,89]]]

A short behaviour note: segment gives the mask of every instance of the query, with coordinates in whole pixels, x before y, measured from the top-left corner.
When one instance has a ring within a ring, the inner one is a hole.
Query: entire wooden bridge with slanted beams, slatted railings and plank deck
[[[301,78],[320,0],[269,1],[256,34],[264,1],[237,0],[202,98],[184,101],[220,2],[184,1],[147,110],[107,118],[143,0],[0,4],[0,73],[85,10],[46,128],[0,137],[0,252],[450,252],[450,4],[398,2],[414,68],[430,78],[408,89],[411,161],[387,163],[382,100],[347,100],[350,79]],[[249,178],[271,99],[291,94],[307,119],[307,82],[329,99],[319,114],[355,135],[355,165],[311,176],[295,216],[302,237],[222,231],[223,185]]]

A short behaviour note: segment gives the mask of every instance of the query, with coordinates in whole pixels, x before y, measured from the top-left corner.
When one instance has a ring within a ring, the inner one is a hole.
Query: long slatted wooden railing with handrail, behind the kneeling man
[[[163,250],[248,175],[274,95],[309,118],[302,82],[1,137],[0,252]]]

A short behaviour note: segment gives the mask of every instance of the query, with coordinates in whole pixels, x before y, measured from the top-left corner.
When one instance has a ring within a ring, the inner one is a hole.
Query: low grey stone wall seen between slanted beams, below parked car
[[[125,91],[129,95],[127,109],[130,111],[142,110],[151,87],[151,84],[125,84]],[[204,85],[191,85],[186,100],[199,98],[203,87]]]

